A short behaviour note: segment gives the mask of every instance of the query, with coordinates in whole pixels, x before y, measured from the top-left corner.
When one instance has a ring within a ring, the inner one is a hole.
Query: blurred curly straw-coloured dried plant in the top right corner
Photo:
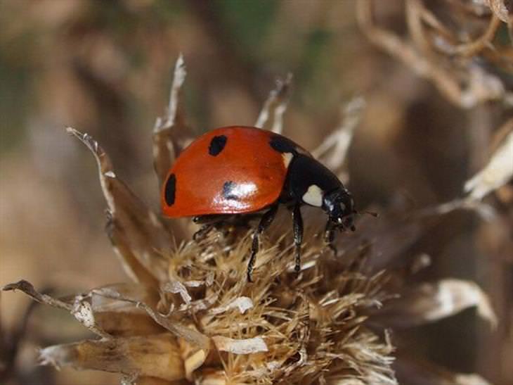
[[[462,40],[465,33],[457,34],[446,27],[429,11],[425,1],[405,1],[406,38],[377,25],[372,14],[375,1],[358,1],[356,10],[361,30],[370,42],[401,61],[415,74],[433,82],[451,103],[460,108],[472,108],[486,101],[502,101],[511,106],[512,92],[507,90],[500,77],[472,60],[483,55],[498,67],[505,66],[509,72],[512,70],[510,46],[502,48],[493,44],[500,20],[507,21],[511,28],[511,16],[505,20],[507,8],[503,1],[489,0],[487,3],[494,11],[488,27],[480,37],[470,42]],[[474,13],[479,15],[476,11]],[[487,51],[492,51],[493,56],[485,56]],[[457,60],[455,56],[458,56]]]

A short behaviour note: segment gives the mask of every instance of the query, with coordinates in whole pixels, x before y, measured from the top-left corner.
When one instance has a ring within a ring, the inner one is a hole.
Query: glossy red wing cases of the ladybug
[[[214,137],[226,137],[216,156]],[[164,215],[184,217],[252,213],[278,200],[287,177],[282,153],[271,148],[276,134],[255,127],[222,127],[203,134],[178,156],[167,175],[174,175],[174,203],[162,187]],[[233,187],[229,194],[226,187]]]

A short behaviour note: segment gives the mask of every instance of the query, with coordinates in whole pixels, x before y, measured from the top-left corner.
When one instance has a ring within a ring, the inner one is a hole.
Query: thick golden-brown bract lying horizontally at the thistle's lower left
[[[183,379],[185,376],[178,343],[171,334],[50,346],[39,352],[39,361],[42,365],[104,370],[168,381]]]

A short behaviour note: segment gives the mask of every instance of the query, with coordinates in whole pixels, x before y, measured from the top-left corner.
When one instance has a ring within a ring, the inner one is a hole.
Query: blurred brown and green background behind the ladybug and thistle
[[[486,30],[487,15],[472,18],[472,25],[455,17],[456,3],[465,1],[426,3],[455,30],[469,36]],[[461,196],[465,180],[486,163],[510,106],[456,106],[370,44],[355,6],[351,0],[1,1],[0,285],[24,278],[69,294],[125,279],[103,232],[96,165],[64,127],[98,139],[117,175],[156,208],[150,135],[180,52],[188,69],[188,122],[198,134],[253,125],[275,78],[292,72],[284,133],[307,149],[337,127],[344,102],[365,96],[349,153],[358,206],[403,200],[424,208]],[[404,12],[403,1],[395,0],[376,10],[380,25],[399,35],[407,28]],[[496,39],[508,42],[506,25],[500,28]],[[475,60],[490,68],[486,57]],[[509,90],[510,69],[492,71]],[[511,210],[511,200],[491,202]],[[505,365],[513,346],[511,225],[458,211],[415,246],[433,258],[422,279],[474,280],[491,295],[500,324],[492,332],[466,310],[411,332],[413,352],[495,384],[513,383],[513,362],[509,370]],[[28,303],[21,295],[1,296],[5,329],[21,322]],[[28,322],[18,357],[27,373],[36,346],[86,335],[52,309],[35,308]],[[50,368],[30,375],[32,384],[118,381]]]

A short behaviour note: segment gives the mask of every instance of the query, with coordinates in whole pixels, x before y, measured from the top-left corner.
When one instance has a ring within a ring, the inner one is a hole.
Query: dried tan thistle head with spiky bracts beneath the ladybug
[[[163,170],[190,141],[179,103],[185,73],[179,58],[167,115],[153,132],[160,182]],[[280,87],[264,106],[262,127],[272,116],[271,127],[281,130],[286,102]],[[349,116],[340,133],[313,153],[340,168],[356,124],[356,115]],[[429,262],[425,255],[405,258],[422,234],[422,215],[361,218],[358,233],[341,237],[335,257],[316,236],[319,218],[309,213],[299,277],[289,234],[278,218],[263,240],[255,282],[247,284],[249,234],[212,232],[190,241],[190,226],[166,222],[145,206],[117,177],[96,141],[72,128],[68,132],[96,157],[108,236],[131,282],[60,299],[40,294],[25,281],[4,286],[4,291],[18,289],[67,310],[98,336],[42,349],[44,365],[117,372],[123,384],[205,385],[397,384],[396,365],[415,384],[408,368],[418,363],[405,358],[401,346],[396,350],[390,330],[434,322],[470,306],[496,322],[488,298],[472,282],[405,284],[407,274]],[[439,368],[429,373],[434,384],[486,384],[476,374]]]

